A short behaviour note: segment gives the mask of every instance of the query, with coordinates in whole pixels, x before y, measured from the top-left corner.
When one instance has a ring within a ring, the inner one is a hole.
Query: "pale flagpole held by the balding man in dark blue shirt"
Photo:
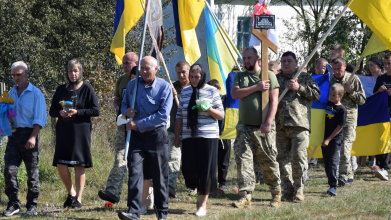
[[[139,56],[139,60],[138,60],[138,64],[137,64],[137,73],[136,73],[136,79],[135,79],[134,88],[133,88],[132,103],[130,105],[131,109],[134,109],[134,106],[136,104],[137,86],[138,86],[138,80],[140,80],[139,79],[140,64],[141,64],[141,59],[143,58],[143,53],[144,53],[145,32],[147,30],[148,16],[149,16],[149,7],[148,7],[149,0],[146,0],[146,1],[147,1],[147,11],[145,12],[145,15],[144,15],[144,29],[143,29],[143,34],[141,37],[140,56]],[[133,118],[130,118],[130,121],[133,121]],[[126,160],[128,158],[129,142],[130,142],[130,137],[132,135],[131,131],[132,130],[129,130],[126,133],[125,152],[124,152],[124,158],[123,158],[124,160]]]

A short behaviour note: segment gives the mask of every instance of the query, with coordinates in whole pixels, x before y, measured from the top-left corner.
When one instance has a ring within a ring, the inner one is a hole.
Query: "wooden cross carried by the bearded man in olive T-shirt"
[[[268,38],[268,31],[262,30],[259,31],[257,29],[254,29],[252,27],[252,34],[257,37],[261,42],[261,59],[262,59],[262,81],[269,80],[269,57],[268,57],[268,51],[269,48],[274,52],[277,53],[277,45],[275,45],[271,40]],[[262,123],[265,123],[267,113],[269,110],[269,90],[265,90],[262,92]]]

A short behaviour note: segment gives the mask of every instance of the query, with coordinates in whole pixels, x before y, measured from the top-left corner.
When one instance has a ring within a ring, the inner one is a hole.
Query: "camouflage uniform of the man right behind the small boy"
[[[339,80],[333,75],[330,79],[330,86],[335,83],[344,85],[349,81],[350,76],[350,73],[345,72],[344,77]],[[346,125],[343,127],[343,146],[341,148],[341,157],[339,162],[339,176],[344,180],[353,179],[354,173],[352,170],[350,152],[352,150],[353,142],[356,140],[358,116],[357,105],[362,105],[366,101],[364,88],[357,76],[353,77],[350,88],[352,89],[351,93],[345,93],[341,99],[341,103],[345,106],[348,113],[346,117]]]

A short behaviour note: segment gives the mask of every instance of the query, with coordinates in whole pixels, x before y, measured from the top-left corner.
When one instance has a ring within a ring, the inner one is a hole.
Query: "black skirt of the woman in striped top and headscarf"
[[[187,188],[200,195],[217,190],[217,138],[186,138],[182,141],[182,174]]]

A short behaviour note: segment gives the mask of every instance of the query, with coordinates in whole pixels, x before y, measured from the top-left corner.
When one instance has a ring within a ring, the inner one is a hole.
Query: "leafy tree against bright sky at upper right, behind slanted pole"
[[[299,51],[299,57],[307,57],[315,48],[323,34],[342,11],[342,6],[348,0],[276,0],[272,3],[284,3],[293,8],[297,16],[295,25],[286,23],[287,28],[296,35],[287,35],[288,41],[304,44]],[[308,64],[313,69],[315,60],[319,57],[329,59],[329,48],[335,44],[342,44],[346,48],[346,59],[355,64],[357,57],[362,53],[371,35],[369,28],[350,10],[346,11],[332,33],[326,38],[323,45]]]

